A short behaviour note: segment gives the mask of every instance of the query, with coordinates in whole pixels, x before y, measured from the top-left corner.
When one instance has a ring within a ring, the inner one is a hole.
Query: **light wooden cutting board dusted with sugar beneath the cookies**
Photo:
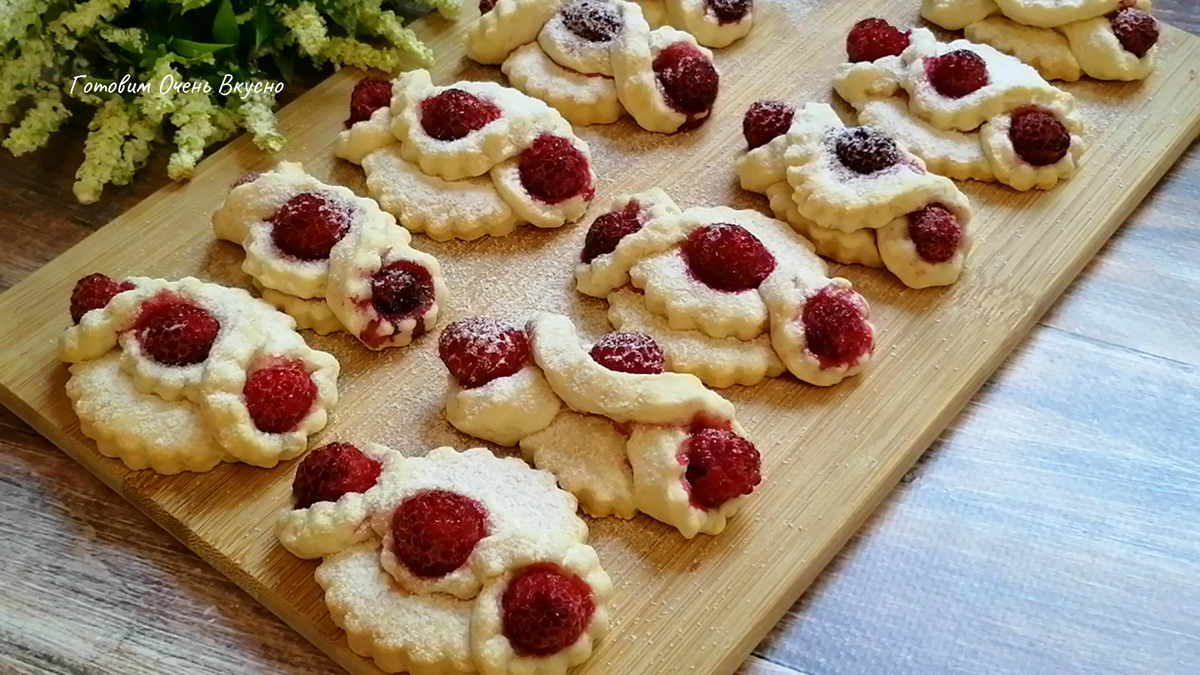
[[[856,20],[917,20],[916,0],[826,5],[839,6],[760,0],[750,37],[718,54],[722,89],[703,129],[659,136],[626,118],[582,130],[595,156],[598,203],[656,185],[684,208],[766,211],[766,201],[738,190],[733,175],[745,108],[767,97],[832,100],[829,79]],[[436,82],[498,79],[496,68],[462,58],[464,25],[427,18],[418,26],[438,53]],[[724,534],[688,542],[644,516],[592,522],[592,543],[618,591],[612,633],[578,673],[732,673],[1196,137],[1198,71],[1200,38],[1166,29],[1146,82],[1067,86],[1090,127],[1082,169],[1048,193],[966,184],[978,209],[977,244],[956,286],[911,291],[884,271],[835,267],[871,303],[875,362],[830,389],[788,377],[725,390],[763,454],[766,482]],[[280,114],[292,143],[277,159],[361,192],[358,168],[330,150],[356,77],[334,76]],[[55,358],[70,322],[67,297],[86,273],[246,286],[240,249],[214,241],[209,216],[234,179],[272,161],[240,138],[204,161],[190,184],[162,190],[0,297],[0,401],[347,670],[378,673],[329,620],[314,563],[275,543],[274,516],[289,501],[294,462],[200,476],[130,472],[79,434],[62,393],[67,370]],[[580,226],[521,228],[503,240],[415,243],[445,268],[454,299],[443,322],[545,309],[595,335],[607,327],[602,304],[571,287],[583,234]],[[342,405],[318,442],[379,441],[408,454],[478,444],[442,418],[445,372],[431,338],[382,354],[346,336],[308,339],[336,354],[343,372]]]

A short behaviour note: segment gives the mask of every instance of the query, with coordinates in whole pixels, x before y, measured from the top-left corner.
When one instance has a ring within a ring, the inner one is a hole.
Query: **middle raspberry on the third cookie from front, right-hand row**
[[[718,291],[757,288],[775,270],[775,256],[757,237],[724,222],[691,231],[683,257],[692,276]]]

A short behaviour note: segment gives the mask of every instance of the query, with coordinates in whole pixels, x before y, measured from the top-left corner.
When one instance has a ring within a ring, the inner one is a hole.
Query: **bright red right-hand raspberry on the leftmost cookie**
[[[281,360],[251,372],[241,395],[259,431],[287,434],[308,416],[317,384],[299,363]]]

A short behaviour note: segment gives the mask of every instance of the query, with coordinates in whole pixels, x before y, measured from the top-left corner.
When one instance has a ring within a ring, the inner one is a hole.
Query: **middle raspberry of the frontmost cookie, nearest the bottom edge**
[[[400,502],[391,516],[391,551],[413,574],[445,577],[467,563],[487,536],[487,512],[470,497],[425,490]]]

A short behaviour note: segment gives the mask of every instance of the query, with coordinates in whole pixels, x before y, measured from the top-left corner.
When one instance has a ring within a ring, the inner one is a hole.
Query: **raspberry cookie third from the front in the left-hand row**
[[[367,191],[409,231],[470,240],[583,216],[590,151],[546,103],[490,82],[436,86],[426,71],[374,82],[390,102],[344,131],[336,153],[362,166]],[[352,119],[355,109],[352,96]]]

